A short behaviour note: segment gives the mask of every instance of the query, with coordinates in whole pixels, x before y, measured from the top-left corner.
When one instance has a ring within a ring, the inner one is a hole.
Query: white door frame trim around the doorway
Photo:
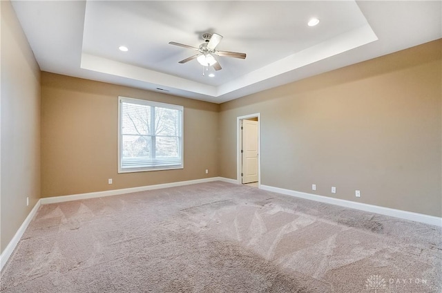
[[[236,178],[238,185],[242,184],[241,180],[241,121],[250,118],[258,118],[258,188],[261,187],[261,115],[254,113],[250,115],[236,117]]]

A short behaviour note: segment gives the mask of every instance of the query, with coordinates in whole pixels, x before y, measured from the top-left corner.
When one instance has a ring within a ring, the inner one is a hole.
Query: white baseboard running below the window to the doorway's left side
[[[192,184],[212,182],[212,181],[224,181],[224,182],[230,182],[230,183],[236,182],[236,180],[232,180],[229,178],[211,177],[211,178],[204,178],[204,179],[164,183],[164,184],[158,184],[158,185],[146,185],[146,186],[140,186],[140,187],[124,188],[124,189],[113,189],[113,190],[106,190],[106,191],[79,193],[79,194],[73,194],[70,196],[53,196],[50,198],[41,198],[41,205],[47,205],[47,204],[56,203],[56,202],[66,202],[66,201],[71,201],[71,200],[84,200],[84,199],[88,199],[88,198],[101,198],[104,196],[117,196],[119,194],[125,194],[125,193],[133,193],[133,192],[140,192],[140,191],[153,190],[153,189],[162,189],[162,188],[168,188],[168,187],[192,185]]]

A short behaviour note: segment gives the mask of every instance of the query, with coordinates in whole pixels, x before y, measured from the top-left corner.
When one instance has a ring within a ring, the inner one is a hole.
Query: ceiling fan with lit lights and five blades
[[[169,41],[169,44],[171,44],[171,45],[180,46],[180,47],[184,47],[184,48],[191,48],[191,49],[197,50],[199,52],[198,54],[193,55],[193,56],[186,58],[184,60],[181,60],[178,63],[184,64],[184,63],[189,62],[193,59],[197,59],[198,62],[202,66],[206,66],[206,67],[213,66],[213,68],[215,70],[221,70],[222,68],[221,68],[220,64],[218,63],[218,61],[215,59],[215,57],[213,55],[217,55],[220,57],[233,57],[233,58],[246,59],[245,53],[216,50],[216,46],[218,46],[218,44],[220,44],[220,41],[222,40],[222,35],[218,35],[216,33],[213,33],[213,34],[205,33],[204,35],[202,35],[202,38],[204,39],[204,43],[202,43],[198,48],[193,47],[193,46],[189,46],[189,45],[176,43],[175,41]]]

